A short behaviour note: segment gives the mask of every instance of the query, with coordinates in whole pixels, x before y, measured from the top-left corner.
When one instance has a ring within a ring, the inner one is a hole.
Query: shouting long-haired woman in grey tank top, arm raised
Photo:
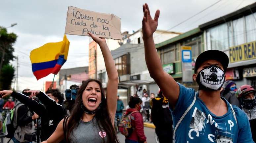
[[[72,143],[118,143],[114,129],[118,73],[105,38],[88,34],[100,45],[105,61],[108,76],[106,98],[100,81],[89,79],[83,82],[70,117],[65,117],[43,143],[56,143],[63,139]]]

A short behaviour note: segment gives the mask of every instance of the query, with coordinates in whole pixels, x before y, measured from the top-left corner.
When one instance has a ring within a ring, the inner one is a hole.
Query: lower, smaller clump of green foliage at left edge
[[[14,78],[15,69],[12,65],[6,64],[3,66],[0,76],[0,90],[10,90],[12,80]]]

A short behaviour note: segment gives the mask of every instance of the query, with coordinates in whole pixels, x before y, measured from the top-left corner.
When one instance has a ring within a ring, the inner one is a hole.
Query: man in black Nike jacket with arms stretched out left
[[[61,94],[58,89],[47,90],[46,94],[39,90],[29,90],[25,92],[30,93],[32,97],[38,97],[41,103],[30,99],[24,94],[11,90],[0,91],[0,94],[2,97],[11,95],[38,114],[42,121],[40,138],[41,140],[46,140],[67,114],[66,109],[61,105],[64,100],[63,94]]]

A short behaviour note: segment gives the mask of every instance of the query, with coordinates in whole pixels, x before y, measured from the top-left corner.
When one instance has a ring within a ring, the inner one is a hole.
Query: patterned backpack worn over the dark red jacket
[[[139,111],[133,111],[128,115],[124,114],[121,119],[121,122],[118,125],[119,131],[121,132],[121,134],[125,135],[126,137],[130,136],[134,130],[134,128],[132,127],[131,116],[135,112],[139,112]]]

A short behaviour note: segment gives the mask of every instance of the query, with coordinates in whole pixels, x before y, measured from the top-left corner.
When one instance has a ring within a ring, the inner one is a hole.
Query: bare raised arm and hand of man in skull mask
[[[160,87],[164,96],[169,100],[171,105],[173,105],[172,108],[174,108],[180,93],[179,85],[175,82],[172,76],[163,70],[153,40],[153,33],[156,31],[158,25],[160,11],[157,10],[154,19],[152,19],[149,12],[149,6],[148,4],[145,4],[143,5],[143,12],[142,32],[145,47],[145,60],[149,74]]]

